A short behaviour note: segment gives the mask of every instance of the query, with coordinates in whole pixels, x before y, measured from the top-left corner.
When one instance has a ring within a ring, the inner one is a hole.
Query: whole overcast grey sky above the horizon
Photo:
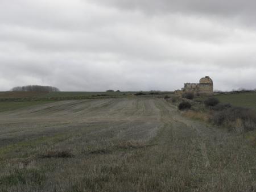
[[[0,0],[0,91],[256,88],[255,0]]]

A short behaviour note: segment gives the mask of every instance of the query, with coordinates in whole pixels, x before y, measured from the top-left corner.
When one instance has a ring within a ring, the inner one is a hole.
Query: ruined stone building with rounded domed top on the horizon
[[[200,79],[199,84],[186,83],[181,90],[175,91],[176,94],[192,92],[195,94],[213,94],[213,81],[205,76]]]

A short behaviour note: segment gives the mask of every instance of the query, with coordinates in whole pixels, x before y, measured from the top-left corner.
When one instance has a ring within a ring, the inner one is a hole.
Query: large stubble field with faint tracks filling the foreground
[[[245,135],[163,98],[28,103],[0,112],[0,191],[256,190]]]

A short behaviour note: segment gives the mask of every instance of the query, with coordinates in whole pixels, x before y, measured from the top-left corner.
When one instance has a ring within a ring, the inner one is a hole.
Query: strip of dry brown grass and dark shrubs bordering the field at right
[[[205,107],[200,102],[194,102],[192,110],[185,111],[183,115],[228,128],[229,131],[242,133],[256,129],[256,112],[250,108],[220,104],[216,98],[209,98],[204,104]]]

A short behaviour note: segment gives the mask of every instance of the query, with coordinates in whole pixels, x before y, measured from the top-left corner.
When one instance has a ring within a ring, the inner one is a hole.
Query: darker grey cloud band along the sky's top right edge
[[[192,12],[212,15],[247,15],[254,17],[256,2],[253,0],[96,0],[93,2],[104,3],[105,5],[113,5],[123,9],[143,10],[146,12]]]

